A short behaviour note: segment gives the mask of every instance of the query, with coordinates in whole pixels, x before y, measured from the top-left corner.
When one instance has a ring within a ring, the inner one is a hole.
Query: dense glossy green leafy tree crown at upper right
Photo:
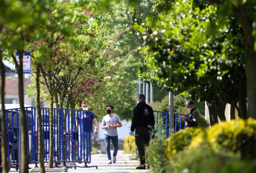
[[[151,70],[144,78],[163,89],[221,105],[217,110],[222,110],[226,103],[239,99],[245,102],[246,97],[234,94],[243,88],[237,82],[245,81],[241,58],[245,56],[245,47],[240,44],[243,37],[233,38],[240,32],[232,17],[223,17],[227,25],[217,22],[219,32],[213,32],[211,21],[216,21],[216,9],[196,1],[158,1],[153,6],[155,15],[142,20],[133,13],[131,18],[146,60],[141,70]],[[225,119],[223,112],[217,114]]]

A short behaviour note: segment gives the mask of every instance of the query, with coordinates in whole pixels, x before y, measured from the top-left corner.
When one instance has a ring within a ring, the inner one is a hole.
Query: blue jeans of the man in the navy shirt
[[[91,135],[90,136],[91,138],[89,138],[89,135]],[[81,156],[82,156],[82,154],[84,156],[85,151],[86,151],[86,154],[85,154],[86,155],[86,161],[88,161],[88,157],[91,153],[92,135],[93,135],[93,132],[78,131],[78,140],[79,140],[78,157],[79,157],[80,161],[82,161]],[[86,146],[86,149],[84,148],[84,146]]]

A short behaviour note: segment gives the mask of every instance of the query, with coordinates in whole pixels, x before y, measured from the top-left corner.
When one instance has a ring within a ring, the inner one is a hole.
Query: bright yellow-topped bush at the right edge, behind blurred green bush
[[[207,131],[208,143],[214,149],[230,149],[240,152],[241,159],[256,159],[256,120],[249,118],[221,122]]]

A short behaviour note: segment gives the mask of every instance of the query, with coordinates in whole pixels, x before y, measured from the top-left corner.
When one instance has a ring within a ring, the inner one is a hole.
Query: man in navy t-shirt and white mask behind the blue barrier
[[[82,103],[83,111],[79,112],[76,116],[76,126],[78,127],[78,161],[82,161],[82,153],[86,151],[86,160],[88,161],[89,153],[91,152],[91,140],[92,135],[98,134],[98,123],[97,116],[92,112],[88,111],[88,104],[86,102]],[[92,128],[92,121],[94,122],[95,130]],[[86,149],[84,148],[86,146]],[[83,154],[84,155],[84,154]]]

